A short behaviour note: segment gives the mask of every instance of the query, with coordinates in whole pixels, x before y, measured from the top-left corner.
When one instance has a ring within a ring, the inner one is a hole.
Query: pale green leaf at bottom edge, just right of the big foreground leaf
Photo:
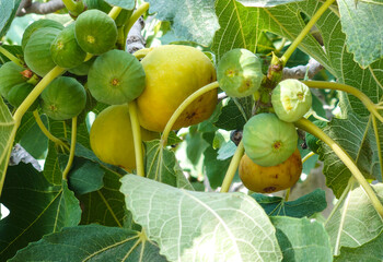
[[[309,218],[271,217],[286,262],[333,261],[325,228]]]

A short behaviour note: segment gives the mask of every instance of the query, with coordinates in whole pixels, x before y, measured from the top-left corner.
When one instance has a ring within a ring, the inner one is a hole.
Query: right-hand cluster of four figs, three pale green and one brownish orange
[[[230,97],[253,95],[262,88],[262,59],[249,50],[228,51],[217,68],[221,90]],[[298,181],[302,162],[293,122],[310,110],[312,95],[305,84],[289,79],[278,83],[269,100],[270,112],[257,112],[244,126],[245,155],[240,163],[244,186],[262,193],[287,189]]]

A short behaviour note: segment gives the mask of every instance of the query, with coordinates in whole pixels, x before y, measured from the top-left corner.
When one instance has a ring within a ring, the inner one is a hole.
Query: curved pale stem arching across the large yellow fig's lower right
[[[172,131],[172,128],[175,123],[175,121],[177,120],[177,118],[181,116],[181,114],[186,109],[186,107],[188,107],[195,99],[197,99],[199,96],[204,95],[205,93],[208,93],[209,91],[216,90],[218,88],[218,82],[212,82],[210,84],[207,84],[202,87],[200,87],[199,90],[197,90],[196,92],[194,92],[192,95],[189,95],[179,106],[178,108],[173,112],[172,117],[169,119],[162,136],[161,136],[161,144],[163,147],[166,146],[167,144],[167,136],[170,134],[170,132]]]

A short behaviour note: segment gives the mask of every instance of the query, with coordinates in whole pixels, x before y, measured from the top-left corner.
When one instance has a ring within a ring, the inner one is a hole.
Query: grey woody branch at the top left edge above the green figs
[[[32,0],[22,0],[16,16],[24,16],[25,14],[36,13],[36,14],[48,14],[54,13],[66,5],[61,0],[51,0],[49,2],[32,2]]]

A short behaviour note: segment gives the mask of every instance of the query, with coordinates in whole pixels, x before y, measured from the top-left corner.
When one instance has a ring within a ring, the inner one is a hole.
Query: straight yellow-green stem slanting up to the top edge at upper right
[[[309,23],[304,26],[301,33],[295,37],[295,39],[291,43],[289,48],[286,50],[281,60],[283,61],[283,66],[287,63],[293,51],[298,48],[298,46],[302,43],[304,37],[310,33],[311,28],[315,25],[322,14],[335,2],[335,0],[326,0],[322,4],[322,7],[315,12],[315,14],[311,17]]]

